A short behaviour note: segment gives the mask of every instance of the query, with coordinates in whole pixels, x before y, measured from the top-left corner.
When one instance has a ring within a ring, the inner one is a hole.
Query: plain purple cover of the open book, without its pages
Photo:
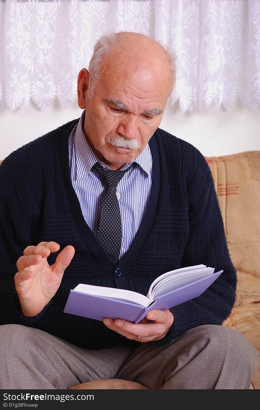
[[[212,273],[206,276],[206,278],[196,280],[188,285],[158,296],[149,307],[104,296],[88,295],[84,292],[71,289],[63,312],[102,321],[105,317],[109,317],[111,319],[120,318],[139,323],[145,318],[149,310],[170,309],[171,307],[197,298],[222,272],[223,270]]]

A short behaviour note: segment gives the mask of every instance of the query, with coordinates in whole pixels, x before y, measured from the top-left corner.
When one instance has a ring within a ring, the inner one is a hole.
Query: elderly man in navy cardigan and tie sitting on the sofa
[[[147,36],[103,36],[78,75],[81,118],[0,166],[1,389],[111,378],[149,389],[249,389],[256,350],[220,326],[236,272],[210,169],[158,128],[174,67]],[[198,298],[142,323],[63,312],[79,283],[147,294],[161,273],[196,264],[224,272]]]

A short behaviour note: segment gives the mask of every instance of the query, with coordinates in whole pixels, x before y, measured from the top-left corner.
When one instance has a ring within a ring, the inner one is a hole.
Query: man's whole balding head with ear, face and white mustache
[[[175,83],[174,58],[143,34],[102,36],[78,75],[78,104],[93,152],[121,169],[145,149],[161,123]]]

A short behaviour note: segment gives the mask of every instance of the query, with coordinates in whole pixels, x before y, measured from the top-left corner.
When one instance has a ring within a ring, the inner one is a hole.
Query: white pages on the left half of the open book
[[[94,286],[88,285],[86,283],[79,283],[74,288],[77,292],[83,292],[89,295],[103,296],[107,298],[120,299],[123,301],[136,303],[138,305],[147,306],[150,303],[150,299],[147,296],[142,295],[138,292],[133,292],[132,290],[119,289],[113,287],[104,286]]]

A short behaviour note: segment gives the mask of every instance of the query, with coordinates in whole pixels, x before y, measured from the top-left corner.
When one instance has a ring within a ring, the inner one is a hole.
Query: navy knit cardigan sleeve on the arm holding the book
[[[187,330],[206,324],[221,325],[235,303],[236,271],[231,262],[224,232],[222,214],[217,200],[214,180],[208,164],[202,159],[205,169],[200,177],[190,184],[190,234],[182,258],[182,267],[204,264],[223,269],[223,273],[201,296],[173,307],[174,322],[165,337],[152,346],[171,342]],[[206,164],[205,164],[206,163]]]

